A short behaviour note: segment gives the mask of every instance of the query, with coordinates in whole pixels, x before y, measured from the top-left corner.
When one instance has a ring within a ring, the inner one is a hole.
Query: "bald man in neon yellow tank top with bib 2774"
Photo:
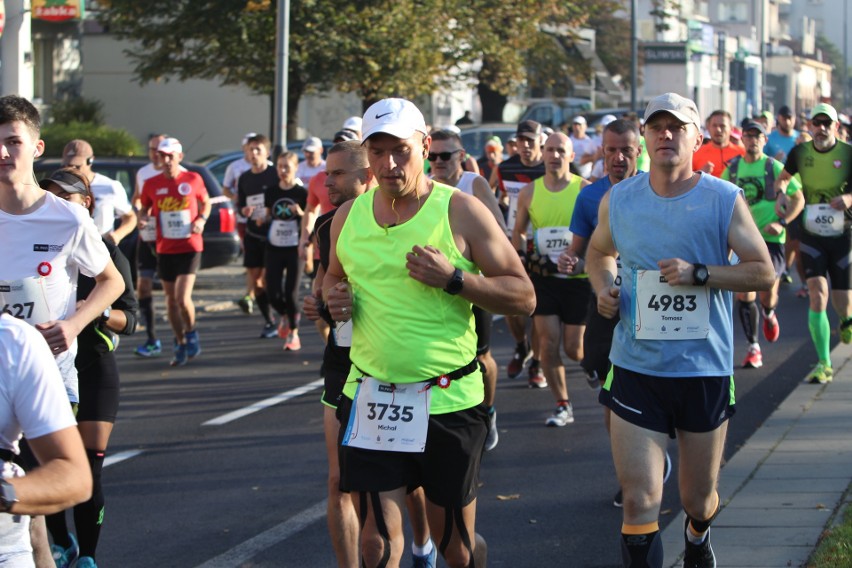
[[[557,269],[559,255],[571,244],[571,215],[581,189],[588,182],[573,175],[568,167],[574,156],[571,139],[552,134],[544,144],[543,178],[526,185],[518,196],[518,216],[512,231],[512,244],[526,251],[527,266],[536,293],[533,314],[534,337],[541,354],[541,366],[549,378],[556,410],[547,426],[574,422],[574,409],[565,384],[565,365],[560,356],[560,337],[568,358],[583,358],[583,331],[591,288],[585,274],[562,274]],[[532,242],[526,227],[532,222]],[[530,386],[538,386],[531,380]]]

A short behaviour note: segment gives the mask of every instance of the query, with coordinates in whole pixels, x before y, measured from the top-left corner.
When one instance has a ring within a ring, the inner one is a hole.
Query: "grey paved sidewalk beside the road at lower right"
[[[710,531],[719,568],[804,566],[852,502],[852,345],[831,353],[834,380],[802,383],[722,468]],[[663,531],[680,567],[683,516]]]

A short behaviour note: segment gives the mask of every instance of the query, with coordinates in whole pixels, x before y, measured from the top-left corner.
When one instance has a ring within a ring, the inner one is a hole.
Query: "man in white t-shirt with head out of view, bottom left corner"
[[[92,492],[92,474],[59,368],[35,328],[0,314],[0,565],[33,564],[30,515],[65,510]],[[12,463],[22,432],[41,464]]]

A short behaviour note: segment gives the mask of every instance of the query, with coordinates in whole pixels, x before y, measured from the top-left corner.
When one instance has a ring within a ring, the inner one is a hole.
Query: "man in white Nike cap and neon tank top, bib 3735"
[[[444,509],[429,528],[448,543],[447,563],[485,566],[474,524],[488,415],[471,304],[529,314],[534,291],[488,210],[423,175],[431,138],[417,107],[379,101],[363,136],[379,185],[338,209],[323,280],[331,317],[352,322],[341,489],[358,508],[370,503],[361,511],[364,565],[399,566],[402,523],[382,511],[401,510],[406,488],[421,485]]]

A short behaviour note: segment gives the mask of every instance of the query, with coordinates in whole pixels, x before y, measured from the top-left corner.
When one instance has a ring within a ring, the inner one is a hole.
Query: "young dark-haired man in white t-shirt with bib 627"
[[[47,340],[78,401],[77,335],[124,291],[89,212],[41,189],[33,160],[44,152],[41,119],[26,99],[0,98],[0,306],[34,325]],[[76,305],[77,274],[95,279],[92,293]]]

